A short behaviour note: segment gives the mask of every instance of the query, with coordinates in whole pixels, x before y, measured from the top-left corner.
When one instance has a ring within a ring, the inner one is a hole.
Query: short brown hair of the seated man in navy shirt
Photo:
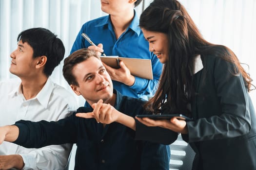
[[[62,68],[62,74],[69,85],[79,86],[76,80],[76,77],[73,74],[73,68],[77,64],[87,60],[90,57],[96,57],[100,60],[100,57],[97,55],[97,53],[94,50],[87,49],[87,48],[74,51],[67,58],[65,58],[64,65]]]

